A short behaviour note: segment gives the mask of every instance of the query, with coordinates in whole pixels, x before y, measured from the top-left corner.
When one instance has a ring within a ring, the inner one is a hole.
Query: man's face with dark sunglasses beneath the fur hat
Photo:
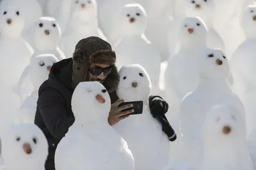
[[[88,77],[90,81],[99,81],[100,83],[102,83],[105,80],[105,78],[108,76],[108,74],[111,72],[111,69],[109,69],[109,66],[110,66],[109,64],[90,64],[89,70],[92,70],[93,72],[91,73],[90,71],[88,71]],[[105,73],[109,72],[109,73],[104,74],[104,72]]]

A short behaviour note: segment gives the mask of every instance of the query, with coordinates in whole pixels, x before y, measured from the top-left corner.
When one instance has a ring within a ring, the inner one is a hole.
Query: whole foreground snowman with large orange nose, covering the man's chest
[[[56,170],[134,170],[127,143],[108,124],[111,101],[105,87],[98,81],[79,83],[71,105],[75,122],[56,148]]]

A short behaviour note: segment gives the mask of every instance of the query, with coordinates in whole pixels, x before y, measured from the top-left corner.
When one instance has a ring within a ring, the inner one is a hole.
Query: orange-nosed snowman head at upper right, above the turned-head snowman
[[[207,40],[207,27],[198,17],[187,17],[182,21],[179,39],[181,44],[202,44]]]

